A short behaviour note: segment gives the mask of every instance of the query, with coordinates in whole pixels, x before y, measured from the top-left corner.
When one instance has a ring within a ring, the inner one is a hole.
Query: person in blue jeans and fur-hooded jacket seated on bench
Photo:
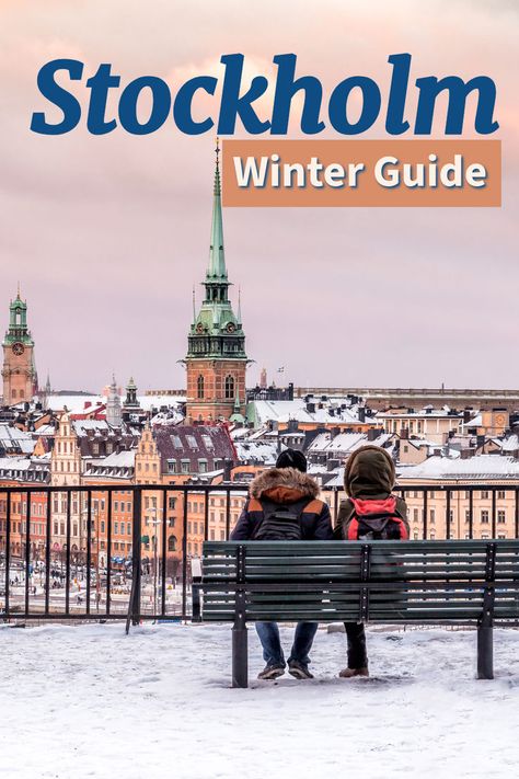
[[[291,516],[299,516],[301,540],[331,540],[333,529],[330,508],[326,503],[318,500],[319,485],[305,471],[307,460],[302,452],[293,449],[282,451],[275,468],[260,473],[253,480],[250,497],[231,534],[231,540],[254,540],[261,527],[277,509],[289,509]],[[318,622],[299,622],[296,628],[288,673],[298,679],[313,678],[308,666],[316,630]],[[282,676],[286,668],[278,626],[276,622],[256,622],[256,631],[266,663],[257,678],[276,679]]]

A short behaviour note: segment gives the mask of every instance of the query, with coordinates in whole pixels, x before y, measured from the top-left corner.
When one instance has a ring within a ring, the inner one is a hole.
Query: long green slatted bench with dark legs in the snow
[[[519,623],[519,540],[211,541],[194,573],[193,620],[233,625],[233,687],[247,622],[474,625],[485,679],[493,626]]]

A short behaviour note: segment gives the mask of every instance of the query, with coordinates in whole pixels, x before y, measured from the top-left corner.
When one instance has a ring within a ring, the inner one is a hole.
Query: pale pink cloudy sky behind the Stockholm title
[[[173,121],[147,137],[94,137],[84,123],[37,136],[28,126],[46,107],[36,87],[45,62],[80,59],[85,78],[112,62],[123,85],[155,75],[175,92],[192,76],[221,77],[222,54],[241,51],[249,76],[272,76],[273,57],[293,51],[298,75],[326,89],[366,75],[387,95],[388,56],[410,51],[413,78],[496,81],[504,206],[227,209],[232,294],[240,285],[256,360],[249,380],[262,366],[276,378],[284,365],[285,379],[302,386],[518,387],[517,9],[512,0],[0,0],[0,328],[20,279],[37,367],[55,387],[97,391],[112,370],[142,389],[183,387],[177,360],[207,263],[212,136],[182,136]],[[74,93],[86,106],[84,81]],[[411,118],[413,105],[411,94]],[[470,108],[465,122],[473,137]],[[384,137],[383,123],[382,114],[370,137]]]

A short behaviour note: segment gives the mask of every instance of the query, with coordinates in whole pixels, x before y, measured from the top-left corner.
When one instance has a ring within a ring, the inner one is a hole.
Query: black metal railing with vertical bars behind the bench
[[[235,483],[0,488],[0,619],[191,619],[191,560],[217,532],[229,539],[246,491]],[[396,492],[410,506],[411,538],[519,538],[519,486]],[[324,497],[336,518],[341,492]],[[123,537],[127,553],[116,554]]]

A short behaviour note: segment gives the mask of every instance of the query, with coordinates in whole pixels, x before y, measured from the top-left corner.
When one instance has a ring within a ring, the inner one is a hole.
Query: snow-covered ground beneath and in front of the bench
[[[289,646],[291,630],[284,631]],[[9,779],[516,777],[519,632],[369,633],[372,677],[339,680],[344,634],[320,630],[314,681],[230,689],[230,631],[120,625],[0,629],[0,776]]]

